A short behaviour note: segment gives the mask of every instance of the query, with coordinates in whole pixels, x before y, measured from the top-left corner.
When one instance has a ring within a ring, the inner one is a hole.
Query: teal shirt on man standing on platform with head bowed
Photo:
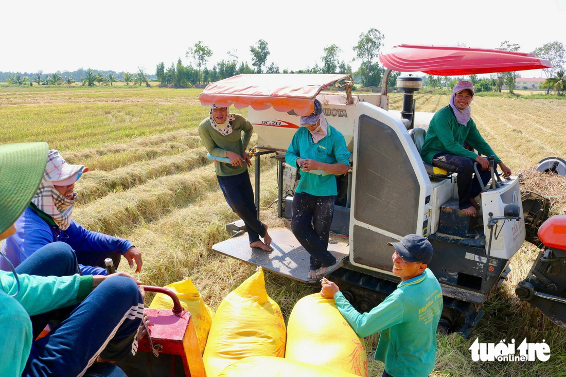
[[[328,133],[318,143],[312,141],[307,127],[301,127],[293,135],[291,144],[285,153],[285,161],[297,166],[297,158],[311,158],[324,164],[342,164],[350,166],[350,152],[346,147],[344,136],[336,128],[328,125]],[[301,172],[301,179],[295,192],[306,192],[315,196],[330,196],[338,193],[336,176],[333,174],[318,175]]]

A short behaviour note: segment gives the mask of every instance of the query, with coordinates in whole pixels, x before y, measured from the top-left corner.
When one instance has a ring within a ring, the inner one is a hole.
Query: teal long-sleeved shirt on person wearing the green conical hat
[[[92,291],[92,275],[18,275],[20,290],[12,273],[0,271],[0,375],[20,376],[32,345],[29,316],[83,301]]]

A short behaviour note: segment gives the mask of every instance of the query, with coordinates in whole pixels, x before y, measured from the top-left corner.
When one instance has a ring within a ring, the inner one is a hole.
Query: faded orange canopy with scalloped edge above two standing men
[[[314,110],[314,98],[321,90],[350,75],[333,74],[257,74],[238,75],[209,84],[200,93],[204,106],[251,106],[265,110],[273,106],[278,112],[305,116]]]

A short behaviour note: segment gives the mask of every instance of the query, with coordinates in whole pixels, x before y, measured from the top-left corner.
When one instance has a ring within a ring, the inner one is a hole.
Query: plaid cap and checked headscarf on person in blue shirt
[[[73,192],[72,199],[67,199],[55,188],[54,182],[65,182],[71,177],[79,179],[80,175],[87,170],[84,165],[67,164],[65,159],[59,155],[59,152],[54,149],[49,151],[45,173],[35,196],[33,196],[32,203],[40,211],[51,216],[61,230],[66,230],[71,225],[71,213],[77,194]]]

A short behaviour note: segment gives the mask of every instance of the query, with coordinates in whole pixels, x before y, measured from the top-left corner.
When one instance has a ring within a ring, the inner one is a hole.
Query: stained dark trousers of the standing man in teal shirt
[[[310,258],[310,269],[330,267],[336,258],[328,251],[330,224],[336,195],[315,196],[295,192],[291,230]]]

